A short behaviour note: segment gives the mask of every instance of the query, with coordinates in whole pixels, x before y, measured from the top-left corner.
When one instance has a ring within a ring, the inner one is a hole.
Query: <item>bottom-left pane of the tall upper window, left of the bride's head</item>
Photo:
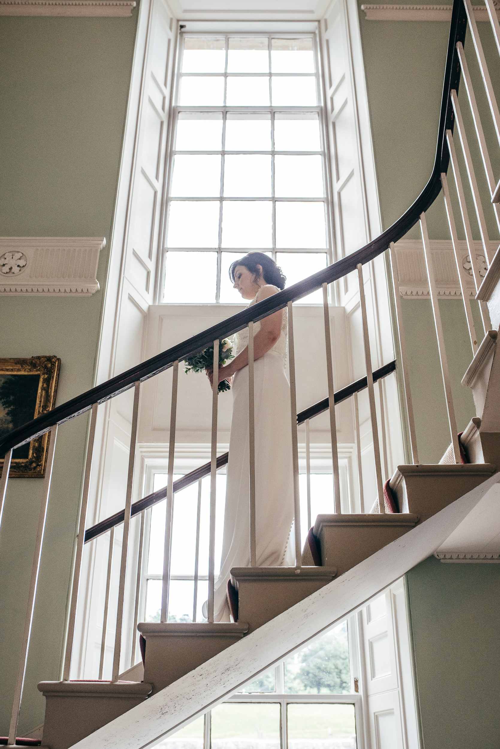
[[[216,252],[167,252],[164,302],[210,304],[216,288]]]

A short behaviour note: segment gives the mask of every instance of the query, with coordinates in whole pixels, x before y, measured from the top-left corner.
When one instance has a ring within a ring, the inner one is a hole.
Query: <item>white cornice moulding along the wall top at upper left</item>
[[[131,16],[135,0],[0,0],[0,16]]]

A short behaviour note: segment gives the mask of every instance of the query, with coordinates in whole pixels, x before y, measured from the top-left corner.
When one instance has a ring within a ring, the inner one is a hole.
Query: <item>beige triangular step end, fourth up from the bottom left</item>
[[[337,577],[355,567],[387,544],[412,530],[414,525],[377,526],[372,524],[322,524],[319,538],[321,560],[324,565],[335,565]]]

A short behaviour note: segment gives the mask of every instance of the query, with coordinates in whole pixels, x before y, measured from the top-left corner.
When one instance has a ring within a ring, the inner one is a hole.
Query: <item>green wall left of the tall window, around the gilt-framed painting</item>
[[[109,247],[137,10],[130,18],[0,17],[0,235],[106,237]],[[0,298],[2,357],[61,358],[57,403],[93,385],[103,287]],[[57,679],[87,416],[59,430],[19,732]],[[10,721],[43,479],[12,479],[0,531],[0,735]]]

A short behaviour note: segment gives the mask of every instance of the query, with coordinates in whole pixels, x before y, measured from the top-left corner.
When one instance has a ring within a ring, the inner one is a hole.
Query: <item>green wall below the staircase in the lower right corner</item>
[[[407,577],[424,749],[497,749],[500,565],[430,557]]]

